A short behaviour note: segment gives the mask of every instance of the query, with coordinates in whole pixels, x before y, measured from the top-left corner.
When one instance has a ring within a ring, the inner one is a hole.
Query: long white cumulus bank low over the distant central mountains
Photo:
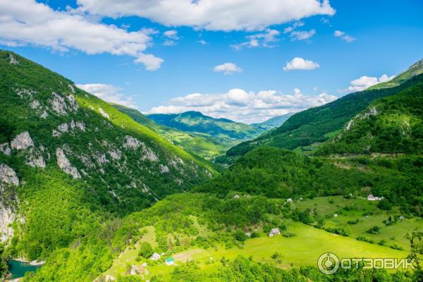
[[[258,123],[274,116],[303,111],[312,106],[321,106],[335,99],[337,99],[336,96],[327,93],[305,95],[296,88],[292,94],[283,94],[276,90],[247,92],[235,88],[220,94],[193,93],[177,97],[165,105],[152,108],[147,114],[201,111],[214,118]]]

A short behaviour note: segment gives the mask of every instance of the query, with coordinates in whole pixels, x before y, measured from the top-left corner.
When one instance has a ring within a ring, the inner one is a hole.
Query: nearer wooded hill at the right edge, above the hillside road
[[[423,153],[423,82],[376,100],[317,149],[317,154],[370,153]]]

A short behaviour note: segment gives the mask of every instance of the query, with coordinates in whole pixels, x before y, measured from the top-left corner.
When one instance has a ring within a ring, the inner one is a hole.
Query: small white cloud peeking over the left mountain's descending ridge
[[[115,87],[114,85],[102,84],[102,83],[94,83],[94,84],[78,84],[76,85],[78,88],[91,93],[100,99],[120,104],[122,106],[127,106],[128,108],[137,109],[137,103],[132,99],[132,97],[125,97],[122,94],[121,88]]]

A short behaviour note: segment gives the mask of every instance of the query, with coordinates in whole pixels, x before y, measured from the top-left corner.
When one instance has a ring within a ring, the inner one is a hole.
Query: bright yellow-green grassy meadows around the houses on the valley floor
[[[331,199],[331,203],[329,200]],[[423,221],[421,219],[405,219],[398,221],[391,226],[385,226],[382,222],[389,215],[395,214],[396,211],[388,213],[376,208],[375,202],[369,202],[364,198],[345,199],[341,196],[336,197],[319,197],[313,200],[304,200],[301,202],[293,202],[292,207],[300,209],[316,209],[317,214],[326,216],[326,226],[336,226],[339,224],[350,228],[351,235],[343,237],[333,233],[307,226],[303,223],[286,221],[288,231],[295,233],[294,237],[286,238],[283,235],[276,235],[269,238],[265,233],[260,232],[259,238],[252,238],[245,241],[242,248],[231,247],[226,249],[224,245],[216,245],[202,249],[199,247],[189,247],[188,250],[177,252],[171,255],[175,259],[176,264],[194,261],[200,269],[216,270],[221,266],[221,258],[235,259],[238,255],[252,257],[257,262],[268,262],[275,264],[283,269],[292,267],[300,267],[303,265],[317,266],[317,259],[325,252],[333,252],[338,257],[389,257],[403,258],[407,257],[409,246],[404,238],[405,233],[410,231],[423,231]],[[345,207],[347,207],[345,209]],[[338,214],[333,217],[333,214]],[[364,216],[363,214],[366,214]],[[350,225],[347,222],[359,219],[357,224]],[[207,228],[200,225],[196,218],[193,218],[195,227],[200,234],[210,234]],[[378,234],[369,234],[366,231],[372,226],[380,226],[381,231]],[[153,247],[157,246],[155,242],[155,232],[153,226],[143,228],[147,231],[135,248],[125,250],[117,259],[113,266],[104,274],[110,276],[118,276],[125,274],[128,264],[140,265],[147,262],[147,270],[142,275],[143,278],[149,279],[152,276],[159,276],[165,281],[170,279],[171,271],[175,266],[166,266],[164,259],[169,257],[168,254],[163,256],[158,262],[150,259],[137,261],[138,247],[142,242],[148,242]],[[362,242],[355,238],[362,235],[375,241],[374,244]],[[171,236],[170,234],[168,236]],[[386,240],[385,246],[376,244],[379,240]],[[390,245],[398,245],[404,250],[393,250]],[[276,260],[271,256],[278,252],[281,257]]]

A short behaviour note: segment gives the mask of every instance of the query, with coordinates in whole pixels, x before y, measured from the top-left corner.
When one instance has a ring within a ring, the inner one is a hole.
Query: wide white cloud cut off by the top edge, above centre
[[[166,26],[206,30],[262,30],[315,15],[333,15],[329,0],[78,0],[93,15],[140,16]]]

